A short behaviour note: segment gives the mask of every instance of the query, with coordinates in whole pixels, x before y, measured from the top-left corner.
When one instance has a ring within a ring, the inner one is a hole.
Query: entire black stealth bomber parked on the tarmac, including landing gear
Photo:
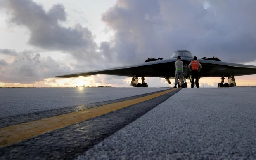
[[[59,78],[70,78],[70,77],[84,77],[96,74],[107,74],[116,76],[128,76],[132,77],[131,86],[133,87],[147,87],[145,83],[145,77],[161,77],[165,78],[166,81],[171,84],[170,79],[175,79],[175,67],[174,63],[177,60],[177,56],[181,56],[184,74],[184,86],[187,87],[186,79],[190,80],[191,83],[191,73],[188,69],[189,63],[194,57],[190,51],[178,50],[173,53],[171,58],[148,58],[144,63],[139,63],[135,65],[126,65],[121,67],[107,68],[104,70],[94,70],[88,72],[79,72],[74,74],[66,74],[61,76],[55,76]],[[222,62],[217,57],[206,58],[203,57],[198,61],[202,65],[202,69],[199,72],[199,79],[201,77],[221,77],[218,87],[234,87],[236,86],[234,76],[243,76],[256,74],[256,66],[253,65],[242,65],[235,63]],[[139,78],[141,77],[142,83],[139,83]],[[224,83],[224,79],[227,77],[228,83]],[[178,87],[180,87],[180,79]]]

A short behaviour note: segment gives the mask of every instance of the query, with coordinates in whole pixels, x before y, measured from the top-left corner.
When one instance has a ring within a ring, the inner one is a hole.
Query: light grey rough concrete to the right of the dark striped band
[[[183,88],[77,160],[256,159],[256,88]]]

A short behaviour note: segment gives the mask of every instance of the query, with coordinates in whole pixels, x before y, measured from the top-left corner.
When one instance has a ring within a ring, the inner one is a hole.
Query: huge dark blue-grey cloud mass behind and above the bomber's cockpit
[[[123,63],[169,58],[187,49],[244,63],[256,60],[256,1],[118,0],[104,14],[115,34],[113,52]]]

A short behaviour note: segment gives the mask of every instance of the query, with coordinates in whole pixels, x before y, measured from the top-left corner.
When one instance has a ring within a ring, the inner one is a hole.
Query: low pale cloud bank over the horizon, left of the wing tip
[[[53,60],[50,56],[43,58],[39,53],[26,51],[20,52],[12,63],[0,60],[0,66],[2,83],[33,84],[53,75],[71,71],[71,68]]]

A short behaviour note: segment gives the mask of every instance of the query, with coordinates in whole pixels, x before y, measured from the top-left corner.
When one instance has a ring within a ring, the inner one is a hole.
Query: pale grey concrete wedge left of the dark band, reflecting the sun
[[[166,89],[168,88],[0,88],[0,117],[116,100]]]

